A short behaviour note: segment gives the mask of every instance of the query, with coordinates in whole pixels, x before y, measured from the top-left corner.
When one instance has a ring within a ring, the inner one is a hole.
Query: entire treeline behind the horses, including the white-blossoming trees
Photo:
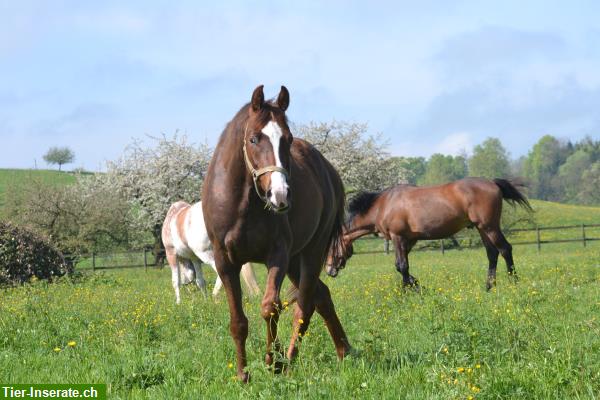
[[[436,184],[465,176],[525,177],[530,197],[600,204],[600,142],[571,143],[544,136],[529,154],[512,160],[500,140],[489,138],[471,156],[434,154],[392,157],[381,136],[365,124],[333,122],[294,126],[340,173],[349,196],[397,183]],[[150,247],[161,253],[161,226],[178,200],[200,200],[212,155],[185,137],[160,137],[151,145],[133,142],[107,163],[106,172],[77,174],[68,186],[32,182],[7,190],[4,215],[48,237],[63,253],[81,254]],[[514,224],[523,218],[515,214]],[[159,260],[160,261],[160,260]]]

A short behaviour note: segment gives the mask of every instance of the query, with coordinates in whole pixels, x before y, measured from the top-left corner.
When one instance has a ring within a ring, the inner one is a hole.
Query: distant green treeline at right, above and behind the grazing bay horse
[[[398,176],[411,184],[438,184],[466,176],[521,177],[532,198],[600,204],[600,141],[590,137],[573,143],[546,135],[518,159],[510,158],[499,139],[488,138],[473,148],[471,156],[392,157],[390,162]]]

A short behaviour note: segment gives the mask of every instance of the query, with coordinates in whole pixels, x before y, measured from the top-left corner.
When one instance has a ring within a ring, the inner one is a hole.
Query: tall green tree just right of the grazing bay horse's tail
[[[523,164],[523,172],[531,182],[532,197],[542,200],[560,197],[556,176],[572,149],[570,143],[561,143],[551,135],[542,137],[533,146]]]

